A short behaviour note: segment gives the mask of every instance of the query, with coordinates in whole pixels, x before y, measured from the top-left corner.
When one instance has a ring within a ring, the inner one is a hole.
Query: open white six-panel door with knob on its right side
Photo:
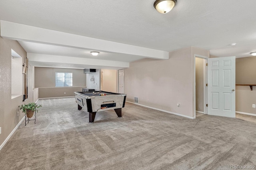
[[[208,59],[208,114],[236,117],[236,57]]]

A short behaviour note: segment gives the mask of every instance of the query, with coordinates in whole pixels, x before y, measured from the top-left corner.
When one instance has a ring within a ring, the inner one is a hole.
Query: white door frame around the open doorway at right
[[[204,114],[208,114],[208,109],[206,107],[206,104],[207,104],[207,86],[206,86],[206,83],[207,83],[207,68],[206,68],[206,63],[207,63],[207,59],[209,57],[206,57],[206,56],[203,56],[203,55],[197,55],[195,54],[194,55],[194,116],[196,118],[196,58],[201,58],[201,59],[204,59]]]

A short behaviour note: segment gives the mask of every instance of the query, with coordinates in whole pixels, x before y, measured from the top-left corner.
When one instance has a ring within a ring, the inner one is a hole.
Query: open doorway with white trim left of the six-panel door
[[[207,114],[207,57],[195,56],[195,116]]]

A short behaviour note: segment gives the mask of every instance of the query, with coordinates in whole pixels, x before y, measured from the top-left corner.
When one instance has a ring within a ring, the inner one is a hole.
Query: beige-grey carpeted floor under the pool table
[[[99,112],[88,123],[74,98],[39,100],[37,121],[18,127],[0,150],[1,170],[186,170],[256,166],[256,124],[196,119],[126,103],[123,117]]]

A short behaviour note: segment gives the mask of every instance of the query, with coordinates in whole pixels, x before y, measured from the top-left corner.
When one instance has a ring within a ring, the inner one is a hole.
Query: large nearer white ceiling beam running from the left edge
[[[17,41],[28,41],[86,50],[138,55],[153,59],[169,59],[169,52],[167,51],[84,37],[81,35],[33,27],[9,21],[1,20],[0,30],[3,38],[14,39]]]

